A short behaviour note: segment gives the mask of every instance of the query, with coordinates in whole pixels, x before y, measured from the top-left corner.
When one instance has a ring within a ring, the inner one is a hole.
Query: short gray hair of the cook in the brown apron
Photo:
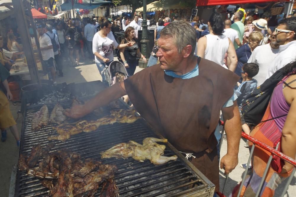
[[[160,32],[160,37],[172,37],[174,44],[178,48],[178,52],[181,53],[184,47],[187,45],[192,46],[190,56],[194,54],[194,48],[196,46],[196,35],[191,24],[184,20],[178,20],[171,22],[163,28]]]

